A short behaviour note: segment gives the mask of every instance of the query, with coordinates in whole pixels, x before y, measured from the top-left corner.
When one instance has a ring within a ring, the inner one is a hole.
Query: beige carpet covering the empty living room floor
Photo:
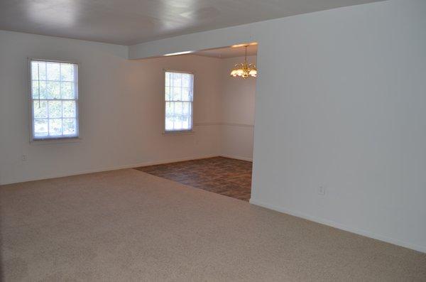
[[[0,199],[4,281],[426,281],[426,254],[138,170]]]

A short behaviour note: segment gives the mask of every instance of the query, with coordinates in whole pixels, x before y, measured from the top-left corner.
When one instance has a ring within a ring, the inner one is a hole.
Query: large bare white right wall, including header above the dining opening
[[[425,14],[424,0],[389,0],[133,45],[129,56],[257,40],[251,202],[426,251]]]

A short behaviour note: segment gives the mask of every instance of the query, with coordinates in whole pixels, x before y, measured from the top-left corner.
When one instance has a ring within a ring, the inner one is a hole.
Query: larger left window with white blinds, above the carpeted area
[[[78,137],[78,65],[30,60],[32,139]]]

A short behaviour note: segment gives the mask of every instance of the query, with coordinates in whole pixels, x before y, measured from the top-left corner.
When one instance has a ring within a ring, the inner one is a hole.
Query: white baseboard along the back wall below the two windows
[[[6,181],[6,182],[1,182],[0,185],[22,183],[22,182],[35,181],[35,180],[45,180],[45,179],[51,179],[51,178],[61,178],[61,177],[66,177],[66,176],[80,175],[80,174],[87,174],[87,173],[100,173],[100,172],[109,171],[109,170],[138,168],[140,166],[155,166],[155,165],[160,165],[162,163],[176,163],[178,161],[191,161],[191,160],[197,160],[197,159],[200,159],[200,158],[212,158],[212,157],[216,157],[216,156],[218,156],[218,155],[214,154],[214,155],[204,155],[204,156],[196,156],[196,157],[190,157],[190,158],[174,158],[174,159],[168,159],[168,160],[162,160],[162,161],[146,161],[146,162],[143,162],[143,163],[133,163],[131,165],[125,165],[125,166],[109,166],[109,167],[104,167],[104,168],[80,170],[80,171],[74,171],[72,173],[54,173],[54,174],[51,174],[51,175],[45,175],[45,176],[40,176],[40,177],[21,178],[21,179],[16,179],[16,180],[9,180],[9,181]]]

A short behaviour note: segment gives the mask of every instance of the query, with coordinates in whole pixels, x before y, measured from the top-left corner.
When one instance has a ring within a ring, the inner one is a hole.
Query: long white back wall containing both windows
[[[221,60],[127,55],[120,45],[0,31],[0,183],[219,154]],[[81,63],[81,140],[29,143],[27,57]],[[195,134],[162,134],[163,68],[195,72]]]

